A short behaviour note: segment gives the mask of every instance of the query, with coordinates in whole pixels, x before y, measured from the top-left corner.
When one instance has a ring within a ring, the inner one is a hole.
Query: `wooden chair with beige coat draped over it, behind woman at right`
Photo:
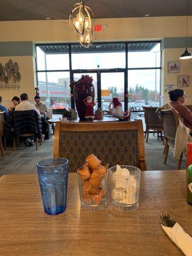
[[[161,109],[159,110],[161,118],[163,120],[163,132],[164,132],[164,164],[168,157],[169,147],[175,147],[175,136],[177,132],[177,127],[179,125],[179,113],[171,109]],[[177,170],[180,170],[182,163],[183,152],[180,154],[179,162],[177,164]]]

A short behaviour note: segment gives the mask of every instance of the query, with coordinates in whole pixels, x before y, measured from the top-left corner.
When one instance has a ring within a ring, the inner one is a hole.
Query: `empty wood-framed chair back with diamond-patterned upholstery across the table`
[[[129,164],[146,170],[142,121],[56,122],[53,154],[69,160],[69,172],[76,172],[92,153],[102,164]]]

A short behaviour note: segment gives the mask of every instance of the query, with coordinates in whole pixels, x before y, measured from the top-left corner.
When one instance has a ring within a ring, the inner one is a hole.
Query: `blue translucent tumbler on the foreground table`
[[[68,159],[49,158],[41,160],[37,163],[37,172],[45,212],[56,215],[65,211]]]

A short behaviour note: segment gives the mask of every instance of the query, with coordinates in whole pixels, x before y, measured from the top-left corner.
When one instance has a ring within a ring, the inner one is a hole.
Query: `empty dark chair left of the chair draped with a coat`
[[[148,142],[148,134],[150,130],[157,131],[157,138],[159,140],[159,132],[161,136],[161,140],[163,140],[162,132],[163,132],[163,122],[159,119],[159,116],[156,114],[157,107],[144,107],[145,113],[145,138],[146,142]]]

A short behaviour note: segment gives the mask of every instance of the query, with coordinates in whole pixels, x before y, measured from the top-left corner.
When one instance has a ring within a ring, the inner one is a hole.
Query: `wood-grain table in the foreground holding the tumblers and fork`
[[[120,212],[81,209],[77,173],[68,175],[67,209],[45,214],[34,175],[0,179],[0,255],[2,256],[169,256],[183,255],[166,236],[159,215],[166,211],[192,236],[185,171],[141,172],[140,206]]]

